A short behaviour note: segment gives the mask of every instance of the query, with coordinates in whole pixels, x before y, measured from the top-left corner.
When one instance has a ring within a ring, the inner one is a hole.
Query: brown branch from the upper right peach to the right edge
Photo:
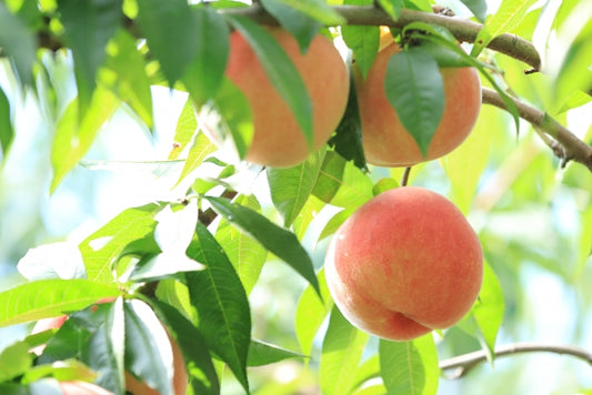
[[[493,90],[482,89],[483,103],[495,105],[500,109],[508,110],[501,97]],[[568,161],[573,160],[582,163],[592,171],[592,146],[578,139],[575,134],[559,123],[545,112],[538,110],[520,100],[512,99],[518,108],[520,118],[530,122],[539,132],[544,132],[553,138],[561,149],[553,146],[553,152],[562,160],[564,165]]]

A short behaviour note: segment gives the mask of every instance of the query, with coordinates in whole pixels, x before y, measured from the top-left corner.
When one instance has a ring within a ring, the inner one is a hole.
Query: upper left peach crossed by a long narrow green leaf
[[[338,126],[348,101],[350,79],[343,59],[331,40],[318,34],[302,54],[290,33],[281,28],[269,32],[288,53],[299,71],[312,103],[313,145],[324,144]],[[245,160],[268,166],[287,168],[303,162],[311,153],[302,129],[288,104],[270,82],[247,40],[234,31],[225,75],[244,93],[251,105],[254,135]],[[209,126],[205,133],[215,140]]]

